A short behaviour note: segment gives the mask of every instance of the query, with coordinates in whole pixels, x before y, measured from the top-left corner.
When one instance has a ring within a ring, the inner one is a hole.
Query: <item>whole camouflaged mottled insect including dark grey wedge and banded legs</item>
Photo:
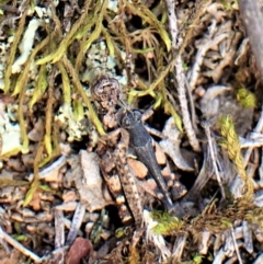
[[[137,226],[139,226],[142,221],[142,210],[145,204],[144,195],[141,193],[142,191],[162,200],[167,208],[171,209],[172,199],[180,198],[186,193],[186,190],[171,173],[167,160],[162,162],[162,164],[165,164],[165,169],[162,171],[164,172],[164,175],[162,174],[161,169],[157,163],[153,149],[153,147],[156,147],[156,149],[158,149],[160,152],[160,147],[157,148],[158,145],[149,136],[148,131],[145,130],[144,125],[141,124],[141,115],[139,115],[138,117],[140,129],[135,130],[134,135],[136,137],[139,137],[137,133],[142,133],[142,135],[140,134],[140,136],[142,138],[146,137],[147,148],[150,151],[150,153],[148,152],[147,154],[150,154],[151,159],[150,163],[147,163],[147,160],[144,160],[139,153],[138,159],[139,161],[142,161],[145,163],[148,172],[146,172],[144,176],[141,176],[141,173],[138,173],[138,170],[136,170],[135,160],[129,158],[127,152],[128,145],[135,147],[133,146],[135,145],[135,140],[133,138],[133,133],[130,133],[130,129],[127,129],[127,126],[124,126],[125,120],[127,122],[127,119],[125,118],[130,117],[129,114],[133,113],[133,111],[126,112],[124,110],[117,110],[117,101],[121,96],[121,89],[118,82],[114,78],[103,76],[101,77],[101,79],[95,80],[94,84],[92,85],[92,93],[93,100],[96,99],[95,106],[98,108],[100,117],[103,120],[104,128],[106,130],[108,128],[116,128],[114,131],[101,138],[96,150],[98,154],[101,158],[102,174],[111,193],[116,200],[116,204],[118,205],[119,216],[122,220],[124,222],[127,222],[132,218],[129,215],[129,210],[125,206],[125,200],[127,200],[135,222]],[[106,110],[108,110],[108,112],[106,112]],[[105,118],[106,115],[107,118]],[[111,116],[112,119],[110,126],[108,116]],[[126,138],[128,137],[128,139],[125,139],[125,133],[123,131],[123,129],[117,128],[118,123],[123,124],[124,128],[129,131],[129,135],[126,135]],[[132,141],[129,142],[130,136]],[[124,141],[126,141],[126,144]],[[144,151],[147,151],[147,149],[142,149],[141,151],[141,154],[144,156]],[[164,153],[162,154],[163,157],[165,157]],[[138,161],[136,162],[138,163]],[[150,174],[153,176],[153,179]],[[137,179],[136,176],[139,176],[140,179]],[[170,197],[170,193],[172,194],[172,198]]]

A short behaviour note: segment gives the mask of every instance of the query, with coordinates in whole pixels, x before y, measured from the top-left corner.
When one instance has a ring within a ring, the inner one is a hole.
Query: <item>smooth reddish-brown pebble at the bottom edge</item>
[[[88,239],[77,238],[66,256],[66,264],[79,264],[83,257],[92,252],[92,244]]]

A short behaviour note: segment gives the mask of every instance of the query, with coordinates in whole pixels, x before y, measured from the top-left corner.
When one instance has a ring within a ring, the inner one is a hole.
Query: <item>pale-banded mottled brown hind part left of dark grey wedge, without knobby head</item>
[[[121,129],[103,137],[96,152],[101,158],[100,167],[103,177],[118,206],[118,214],[124,223],[134,216],[137,226],[142,220],[142,203],[137,190],[135,175],[127,163],[126,146]],[[127,200],[130,213],[125,205]]]

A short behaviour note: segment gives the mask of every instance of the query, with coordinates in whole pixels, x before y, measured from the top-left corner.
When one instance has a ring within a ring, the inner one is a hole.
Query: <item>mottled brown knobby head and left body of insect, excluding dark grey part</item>
[[[98,114],[102,119],[105,130],[117,128],[117,119],[115,117],[116,106],[121,97],[121,87],[116,79],[100,76],[91,85],[92,100],[98,110]],[[126,162],[126,153],[124,146],[121,144],[121,134],[116,129],[103,138],[101,138],[96,152],[101,159],[100,167],[103,177],[110,188],[112,195],[118,206],[118,214],[123,222],[132,220],[132,215],[125,205],[125,200],[128,203],[136,200],[137,205],[129,205],[129,209],[135,218],[136,225],[140,225],[142,219],[142,205],[136,191],[136,184],[132,184],[130,187],[126,187],[130,183],[134,183],[134,174],[129,170]],[[132,192],[130,192],[132,190]],[[125,196],[123,194],[125,192]],[[138,210],[139,208],[139,210]],[[140,214],[140,215],[139,215]]]

